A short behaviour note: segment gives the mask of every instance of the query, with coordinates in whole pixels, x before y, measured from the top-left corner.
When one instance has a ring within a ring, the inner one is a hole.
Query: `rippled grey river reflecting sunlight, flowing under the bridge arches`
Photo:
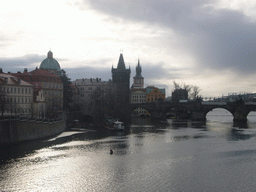
[[[0,191],[255,191],[256,116],[241,129],[226,111],[207,118],[137,119],[125,133],[72,129],[1,148]]]

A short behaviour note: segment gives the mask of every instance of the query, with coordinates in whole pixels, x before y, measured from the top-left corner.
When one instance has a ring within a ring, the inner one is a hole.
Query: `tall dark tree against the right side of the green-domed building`
[[[61,81],[63,83],[63,109],[68,109],[69,104],[72,102],[73,90],[72,90],[72,82],[70,78],[68,78],[66,71],[61,70]]]

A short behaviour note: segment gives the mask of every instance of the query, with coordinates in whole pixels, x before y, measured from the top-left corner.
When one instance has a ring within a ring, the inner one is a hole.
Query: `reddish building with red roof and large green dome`
[[[12,75],[34,86],[33,88],[33,112],[36,117],[56,118],[63,110],[63,83],[61,81],[61,69],[53,53],[48,52],[39,69],[28,72],[25,68],[23,73],[17,72]]]

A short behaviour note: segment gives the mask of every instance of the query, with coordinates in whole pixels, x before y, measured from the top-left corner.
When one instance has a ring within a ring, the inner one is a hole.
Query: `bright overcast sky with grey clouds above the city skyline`
[[[34,70],[49,50],[71,80],[112,78],[123,53],[131,81],[173,82],[203,97],[256,92],[255,0],[5,0],[0,68]]]

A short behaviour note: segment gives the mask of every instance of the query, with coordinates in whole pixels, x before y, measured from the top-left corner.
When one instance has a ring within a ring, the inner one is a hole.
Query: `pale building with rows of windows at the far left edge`
[[[0,71],[1,115],[30,117],[33,103],[33,85],[11,74]]]

